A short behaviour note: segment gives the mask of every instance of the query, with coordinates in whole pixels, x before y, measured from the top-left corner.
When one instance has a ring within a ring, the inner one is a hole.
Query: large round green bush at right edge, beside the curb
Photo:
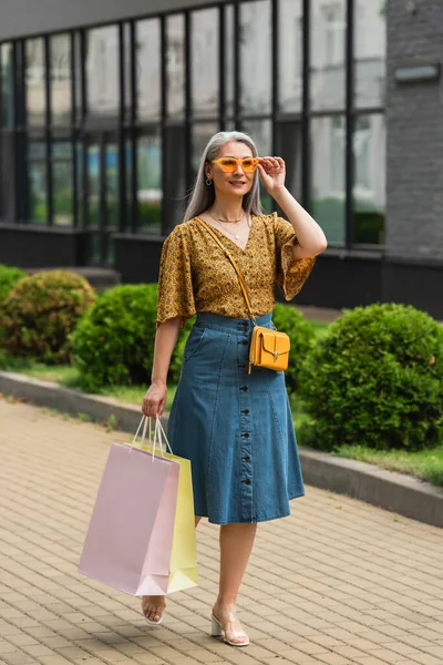
[[[348,311],[307,357],[300,396],[311,418],[303,443],[435,446],[443,440],[443,329],[411,306]]]

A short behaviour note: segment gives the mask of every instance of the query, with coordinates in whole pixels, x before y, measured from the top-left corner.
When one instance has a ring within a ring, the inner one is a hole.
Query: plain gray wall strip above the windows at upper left
[[[0,41],[205,4],[208,0],[1,0]]]

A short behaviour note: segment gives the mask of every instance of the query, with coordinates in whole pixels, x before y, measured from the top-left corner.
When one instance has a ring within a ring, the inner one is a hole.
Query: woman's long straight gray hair
[[[210,185],[206,184],[205,165],[206,162],[210,162],[217,157],[222,145],[229,143],[230,141],[245,143],[245,145],[250,147],[253,151],[253,155],[255,157],[258,156],[256,144],[254,143],[253,139],[248,136],[248,134],[245,134],[244,132],[218,132],[217,134],[214,134],[203,151],[194,188],[186,206],[184,222],[200,215],[204,211],[213,205],[215,200],[214,183]],[[262,215],[258,171],[256,171],[254,174],[251,188],[243,197],[243,207],[249,215]]]

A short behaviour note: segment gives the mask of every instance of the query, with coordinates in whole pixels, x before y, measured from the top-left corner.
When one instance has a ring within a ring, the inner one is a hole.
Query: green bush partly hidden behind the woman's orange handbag
[[[276,303],[272,320],[277,330],[289,335],[291,349],[286,370],[286,385],[289,392],[296,392],[299,387],[300,366],[313,345],[316,332],[303,315],[291,305]]]

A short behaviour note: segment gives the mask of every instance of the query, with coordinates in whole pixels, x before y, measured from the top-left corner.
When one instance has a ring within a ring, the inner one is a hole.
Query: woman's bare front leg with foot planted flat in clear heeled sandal
[[[248,642],[236,620],[238,590],[253,551],[257,524],[225,524],[220,528],[220,580],[214,615],[225,630],[225,638],[235,644]]]

